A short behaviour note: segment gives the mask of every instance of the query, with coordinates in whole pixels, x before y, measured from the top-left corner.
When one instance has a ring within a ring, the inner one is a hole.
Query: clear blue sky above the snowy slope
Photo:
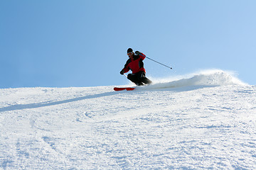
[[[201,69],[256,84],[256,1],[0,1],[0,88],[127,84],[127,48],[148,77]]]

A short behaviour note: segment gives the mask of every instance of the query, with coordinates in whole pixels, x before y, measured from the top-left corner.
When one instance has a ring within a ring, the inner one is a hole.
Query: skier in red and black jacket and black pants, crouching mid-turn
[[[127,78],[134,82],[134,84],[137,84],[137,86],[151,84],[152,81],[146,78],[146,70],[144,69],[143,60],[146,58],[146,55],[139,51],[136,51],[134,55],[132,48],[128,48],[127,55],[129,56],[129,59],[120,74],[124,74],[129,72],[129,70],[132,70],[132,74],[128,74]]]

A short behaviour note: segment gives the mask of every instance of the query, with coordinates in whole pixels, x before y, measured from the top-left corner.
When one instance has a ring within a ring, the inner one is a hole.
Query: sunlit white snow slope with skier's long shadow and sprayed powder
[[[0,169],[256,169],[256,86],[0,89]]]

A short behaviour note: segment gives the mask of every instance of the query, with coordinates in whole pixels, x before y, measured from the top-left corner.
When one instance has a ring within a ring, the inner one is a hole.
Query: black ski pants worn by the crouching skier
[[[151,84],[152,81],[146,78],[145,72],[137,72],[134,74],[128,74],[127,78],[137,84],[137,86],[143,86],[145,84]]]

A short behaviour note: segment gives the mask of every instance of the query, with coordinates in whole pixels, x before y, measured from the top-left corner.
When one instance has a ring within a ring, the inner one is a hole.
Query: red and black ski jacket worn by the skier
[[[144,69],[144,63],[142,62],[146,58],[146,55],[143,53],[140,53],[139,55],[134,55],[132,59],[129,58],[127,60],[126,64],[124,65],[124,73],[129,72],[129,70],[132,70],[132,74],[137,72],[145,72]]]

